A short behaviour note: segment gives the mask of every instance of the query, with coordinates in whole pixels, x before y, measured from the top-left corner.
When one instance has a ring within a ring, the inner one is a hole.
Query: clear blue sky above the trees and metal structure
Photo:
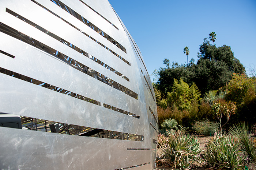
[[[149,74],[165,67],[165,58],[187,64],[185,46],[188,60],[196,63],[199,46],[212,31],[217,34],[215,45],[230,46],[247,74],[250,66],[256,67],[256,0],[109,2],[139,46]]]

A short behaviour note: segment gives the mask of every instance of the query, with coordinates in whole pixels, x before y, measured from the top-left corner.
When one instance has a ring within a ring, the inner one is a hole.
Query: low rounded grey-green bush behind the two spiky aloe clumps
[[[219,130],[219,124],[204,119],[203,121],[196,121],[192,129],[195,130],[198,135],[212,135],[215,131]]]

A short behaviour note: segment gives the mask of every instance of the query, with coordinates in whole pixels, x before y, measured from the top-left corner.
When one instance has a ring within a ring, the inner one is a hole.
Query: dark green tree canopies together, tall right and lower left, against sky
[[[205,38],[204,43],[200,45],[197,57],[199,59],[196,64],[192,59],[187,66],[173,63],[169,67],[169,60],[166,63],[166,59],[164,63],[167,67],[160,68],[159,71],[158,90],[166,95],[172,90],[174,79],[182,78],[189,85],[195,82],[204,94],[225,86],[233,73],[245,74],[244,66],[234,57],[229,46],[216,47]]]

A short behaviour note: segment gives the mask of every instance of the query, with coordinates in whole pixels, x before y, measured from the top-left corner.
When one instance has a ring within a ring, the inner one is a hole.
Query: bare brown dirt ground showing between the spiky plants
[[[211,137],[199,137],[200,147],[204,147],[207,144],[207,141],[209,139],[211,139]],[[161,153],[162,153],[162,150],[158,148],[157,154],[161,155]],[[202,162],[202,164],[196,163],[196,165],[192,166],[191,170],[212,170],[212,169],[209,169],[206,166],[204,166],[204,163],[205,162]],[[247,166],[249,167],[249,170],[256,170],[255,164],[249,164]],[[157,166],[156,170],[175,170],[175,169],[166,167],[166,166]]]

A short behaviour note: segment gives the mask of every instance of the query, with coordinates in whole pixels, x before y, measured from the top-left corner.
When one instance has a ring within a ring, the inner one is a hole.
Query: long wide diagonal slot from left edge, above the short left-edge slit
[[[49,46],[46,46],[45,44],[41,43],[40,41],[37,41],[19,31],[1,23],[1,22],[0,22],[0,31],[18,39],[18,40],[21,40],[27,44],[30,44],[31,46],[34,46],[34,47],[54,56],[56,58],[59,58],[62,61],[64,61],[65,63],[69,64],[71,67],[74,67],[76,70],[79,70],[87,75],[90,75],[93,78],[95,78],[105,84],[108,84],[109,86],[111,86],[121,92],[124,92],[125,94],[131,96],[132,98],[138,99],[138,94],[136,94],[132,90],[124,87],[123,85],[117,83],[116,81],[106,77],[105,75],[85,66],[84,64],[70,58],[69,56],[62,54],[61,52],[59,52],[53,48],[50,48]]]

